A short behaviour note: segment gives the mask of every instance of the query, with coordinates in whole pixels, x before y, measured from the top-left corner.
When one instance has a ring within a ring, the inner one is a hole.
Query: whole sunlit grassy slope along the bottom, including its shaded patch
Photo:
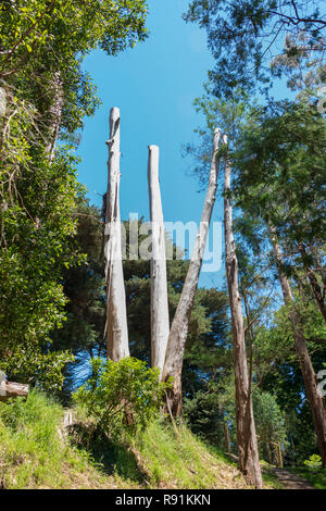
[[[0,403],[2,488],[248,488],[236,466],[186,427],[155,422],[128,443],[86,452],[63,439],[64,410],[33,391]]]

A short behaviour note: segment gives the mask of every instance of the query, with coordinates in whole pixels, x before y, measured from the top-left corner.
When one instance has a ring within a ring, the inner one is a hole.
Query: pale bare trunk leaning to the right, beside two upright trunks
[[[167,408],[171,409],[174,416],[180,416],[183,413],[181,395],[181,371],[185,352],[185,345],[188,335],[189,320],[193,299],[198,286],[198,278],[202,264],[210,221],[216,197],[218,161],[217,150],[221,137],[221,129],[215,129],[213,140],[213,158],[209,178],[208,192],[201,216],[201,223],[196,239],[192,258],[189,264],[188,273],[184,284],[181,297],[170,331],[166,356],[163,369],[162,379],[173,378],[172,388],[166,395]]]

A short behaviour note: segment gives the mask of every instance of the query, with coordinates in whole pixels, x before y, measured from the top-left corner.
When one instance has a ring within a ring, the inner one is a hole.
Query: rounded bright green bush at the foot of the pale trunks
[[[156,415],[170,384],[160,383],[156,367],[131,357],[120,362],[91,360],[92,375],[74,395],[93,422],[93,431],[143,429]]]

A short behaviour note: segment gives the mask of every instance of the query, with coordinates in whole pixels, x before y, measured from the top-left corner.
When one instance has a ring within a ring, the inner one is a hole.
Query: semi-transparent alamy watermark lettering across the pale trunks
[[[198,254],[198,259],[202,258],[202,272],[218,272],[222,266],[222,222],[212,222],[209,228],[208,223],[196,222],[165,222],[165,233],[161,233],[159,224],[153,222],[139,222],[137,213],[129,214],[128,228],[123,222],[105,224],[105,235],[121,240],[122,250],[112,250],[110,259],[125,260],[145,260],[158,256],[152,252],[152,234],[160,239],[165,236],[165,259],[185,260],[186,253],[192,257],[192,250],[200,236],[206,234],[205,249],[203,253]],[[113,236],[114,233],[114,236]],[[128,248],[128,250],[127,250]],[[106,242],[104,254],[106,259],[109,244]]]

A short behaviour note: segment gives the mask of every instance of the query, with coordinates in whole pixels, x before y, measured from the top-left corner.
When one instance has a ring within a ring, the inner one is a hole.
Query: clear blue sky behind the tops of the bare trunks
[[[148,146],[160,146],[160,182],[166,222],[200,222],[204,194],[187,175],[191,160],[181,155],[181,145],[195,140],[201,124],[192,101],[202,95],[208,70],[214,65],[206,36],[196,25],[181,20],[188,0],[149,0],[146,42],[117,57],[101,51],[85,60],[103,101],[95,117],[86,120],[78,154],[79,180],[89,190],[92,203],[101,205],[106,190],[109,112],[121,109],[121,209],[122,219],[138,213],[149,219],[147,184]],[[221,221],[218,198],[212,221]],[[224,264],[214,273],[203,273],[201,286],[221,287]]]

